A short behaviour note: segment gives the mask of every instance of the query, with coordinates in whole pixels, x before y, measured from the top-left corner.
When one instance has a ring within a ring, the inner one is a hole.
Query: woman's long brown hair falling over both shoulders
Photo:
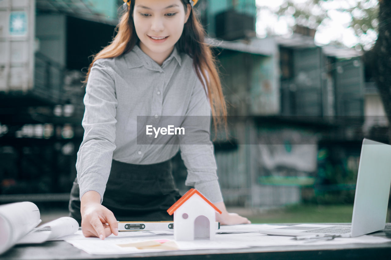
[[[181,0],[181,2],[185,7],[185,12],[187,12],[188,0]],[[134,7],[135,0],[131,1],[127,10],[121,14],[120,21],[115,27],[117,35],[113,38],[113,41],[100,52],[92,55],[93,60],[88,67],[86,79],[83,83],[87,83],[91,67],[97,59],[115,58],[128,53],[140,41],[135,33],[135,24],[131,15]],[[212,55],[211,46],[204,42],[205,35],[206,32],[203,26],[197,15],[194,14],[194,10],[191,9],[190,16],[187,23],[185,23],[182,36],[176,43],[176,47],[179,52],[187,53],[193,59],[193,67],[197,77],[208,92],[216,130],[216,126],[226,126],[227,109],[222,94],[219,72],[217,71],[217,61]],[[204,82],[206,82],[206,85]]]

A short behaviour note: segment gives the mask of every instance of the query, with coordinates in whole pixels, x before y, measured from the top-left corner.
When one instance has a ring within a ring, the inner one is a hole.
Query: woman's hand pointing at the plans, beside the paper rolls
[[[112,233],[118,235],[117,219],[113,212],[100,204],[98,192],[88,191],[83,194],[80,211],[81,230],[84,237],[105,239]]]

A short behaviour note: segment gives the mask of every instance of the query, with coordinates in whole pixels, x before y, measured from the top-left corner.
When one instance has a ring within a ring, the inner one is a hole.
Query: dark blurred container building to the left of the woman
[[[69,200],[81,80],[111,41],[120,2],[0,2],[0,203]]]

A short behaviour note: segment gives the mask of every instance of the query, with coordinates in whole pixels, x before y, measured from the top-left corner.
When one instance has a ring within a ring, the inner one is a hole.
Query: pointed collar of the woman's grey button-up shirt
[[[146,53],[144,53],[138,45],[135,45],[133,47],[133,50],[131,50],[131,52],[128,53],[126,58],[126,63],[129,69],[145,66],[150,69],[161,70],[173,58],[175,58],[179,66],[181,66],[182,59],[176,46],[174,47],[174,50],[172,51],[170,56],[167,59],[165,59],[165,61],[163,61],[163,64],[161,64],[161,66],[159,66],[159,64],[157,64],[154,60],[151,59],[151,57],[149,57]]]

